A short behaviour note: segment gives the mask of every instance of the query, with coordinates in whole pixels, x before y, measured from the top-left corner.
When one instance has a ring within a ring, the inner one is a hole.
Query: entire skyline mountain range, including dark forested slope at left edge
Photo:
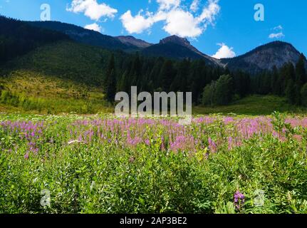
[[[144,56],[162,56],[172,59],[203,59],[207,64],[252,74],[280,68],[284,63],[296,64],[300,52],[290,43],[275,41],[259,46],[242,56],[216,59],[197,50],[186,38],[169,36],[152,44],[133,36],[107,36],[73,24],[58,21],[18,21],[0,17],[0,62],[22,55],[38,46],[63,39],[71,39],[90,46],[126,52],[140,51]],[[307,62],[306,62],[307,67]]]

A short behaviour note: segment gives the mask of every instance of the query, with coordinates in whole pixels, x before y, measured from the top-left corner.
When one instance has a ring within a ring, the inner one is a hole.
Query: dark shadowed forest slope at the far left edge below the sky
[[[68,39],[63,33],[33,28],[24,21],[0,15],[0,63],[21,56],[38,46]]]

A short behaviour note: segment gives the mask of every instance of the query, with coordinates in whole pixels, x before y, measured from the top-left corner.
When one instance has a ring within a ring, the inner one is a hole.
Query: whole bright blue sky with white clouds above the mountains
[[[307,54],[306,0],[0,0],[0,14],[39,21],[41,4],[50,5],[52,21],[151,43],[176,34],[211,56],[239,56],[275,40]],[[256,4],[264,21],[254,19]]]

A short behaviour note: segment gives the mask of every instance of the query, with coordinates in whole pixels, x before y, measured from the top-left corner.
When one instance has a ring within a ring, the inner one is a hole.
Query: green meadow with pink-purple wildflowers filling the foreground
[[[0,213],[307,213],[306,127],[280,113],[1,115]]]

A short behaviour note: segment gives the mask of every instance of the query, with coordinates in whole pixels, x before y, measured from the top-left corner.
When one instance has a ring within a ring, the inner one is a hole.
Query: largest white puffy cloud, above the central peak
[[[142,33],[157,21],[165,21],[163,29],[170,35],[195,38],[201,35],[209,24],[213,24],[220,11],[218,2],[219,0],[209,0],[202,14],[197,16],[192,11],[183,9],[180,0],[157,0],[160,4],[157,12],[146,12],[143,16],[140,11],[136,16],[132,16],[131,11],[127,11],[120,19],[129,33]]]

